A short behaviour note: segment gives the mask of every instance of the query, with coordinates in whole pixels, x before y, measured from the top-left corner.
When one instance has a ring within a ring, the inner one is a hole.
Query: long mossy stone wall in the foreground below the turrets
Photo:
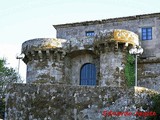
[[[126,90],[124,87],[13,84],[6,95],[5,119],[134,120],[138,109],[147,111],[154,94],[158,93],[141,87]],[[104,116],[104,111],[132,114]]]

